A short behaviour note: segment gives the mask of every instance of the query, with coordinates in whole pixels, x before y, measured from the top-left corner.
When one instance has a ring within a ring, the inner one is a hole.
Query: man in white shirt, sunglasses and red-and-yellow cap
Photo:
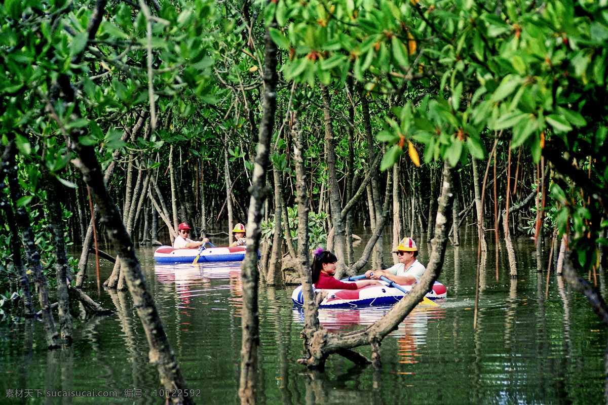
[[[379,279],[384,276],[397,284],[413,284],[420,280],[426,268],[421,264],[418,256],[416,242],[411,237],[404,237],[395,248],[399,263],[385,270],[365,271],[365,276],[372,279]]]

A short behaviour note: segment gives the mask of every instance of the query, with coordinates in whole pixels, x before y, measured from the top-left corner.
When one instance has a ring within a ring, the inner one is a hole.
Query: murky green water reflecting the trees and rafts
[[[603,403],[607,334],[586,299],[554,277],[545,299],[546,272],[536,273],[530,240],[517,242],[520,275],[516,280],[504,267],[497,280],[494,252],[488,254],[473,329],[477,248],[471,243],[468,234],[462,247],[448,248],[439,279],[447,287],[447,301],[439,308],[413,311],[384,339],[380,372],[356,367],[336,355],[323,373],[297,364],[302,315],[291,304],[292,287],[262,287],[259,402]],[[419,247],[421,262],[426,264],[426,244],[420,241]],[[196,402],[237,404],[240,267],[157,265],[152,252],[140,250],[138,256]],[[505,266],[501,250],[499,259]],[[110,271],[103,267],[102,277]],[[91,281],[91,296],[117,308],[117,314],[77,319],[74,346],[68,351],[46,350],[39,321],[0,325],[0,403],[164,403],[130,296],[106,291],[97,296],[94,288]],[[352,330],[375,321],[385,310],[322,310],[320,321],[330,330]],[[81,315],[78,308],[75,312]],[[358,350],[370,355],[368,347]],[[89,395],[90,390],[114,398],[50,396],[69,395],[69,391]]]

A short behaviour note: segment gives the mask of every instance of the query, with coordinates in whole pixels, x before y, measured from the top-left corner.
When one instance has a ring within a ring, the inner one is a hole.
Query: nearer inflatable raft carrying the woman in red
[[[381,281],[382,282],[382,281]],[[384,282],[382,282],[384,283]],[[411,285],[401,285],[406,291],[412,290]],[[317,290],[317,288],[315,288]],[[398,288],[384,285],[367,285],[358,290],[327,290],[328,294],[321,301],[319,307],[339,308],[339,307],[364,307],[368,305],[393,305],[405,295]],[[426,298],[432,301],[446,298],[446,287],[435,281],[432,290],[426,293]],[[295,288],[291,294],[291,299],[296,305],[303,305],[302,285]]]

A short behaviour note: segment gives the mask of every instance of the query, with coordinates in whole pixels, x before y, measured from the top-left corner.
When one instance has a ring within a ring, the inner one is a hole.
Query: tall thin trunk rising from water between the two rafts
[[[268,7],[268,4],[266,5]],[[277,23],[272,16],[264,35],[264,92],[260,123],[258,152],[252,175],[251,197],[247,213],[247,252],[242,265],[243,311],[241,313],[241,378],[238,395],[241,405],[257,404],[258,346],[260,345],[260,315],[258,313],[258,247],[261,237],[261,217],[264,200],[269,190],[266,185],[266,166],[269,162],[270,143],[277,109],[277,46],[269,29]]]

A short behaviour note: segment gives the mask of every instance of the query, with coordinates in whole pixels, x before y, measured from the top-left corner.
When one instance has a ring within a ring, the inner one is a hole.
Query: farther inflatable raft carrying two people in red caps
[[[242,262],[246,250],[247,248],[244,246],[206,248],[202,250],[197,263]],[[161,246],[154,251],[154,260],[159,263],[192,263],[197,254],[198,249],[176,249],[170,246]]]

